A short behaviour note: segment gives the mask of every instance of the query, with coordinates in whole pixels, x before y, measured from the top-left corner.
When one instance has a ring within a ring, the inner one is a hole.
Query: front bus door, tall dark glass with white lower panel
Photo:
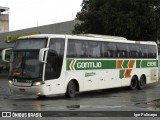
[[[45,69],[45,83],[49,91],[54,93],[60,93],[63,90],[61,70],[64,56],[64,44],[64,39],[54,38],[50,40]]]

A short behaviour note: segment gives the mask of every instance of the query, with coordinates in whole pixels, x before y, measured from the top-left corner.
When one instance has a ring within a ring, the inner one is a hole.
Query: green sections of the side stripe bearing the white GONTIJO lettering
[[[118,60],[67,60],[66,70],[117,69]],[[123,60],[122,68],[128,68],[129,60]],[[136,68],[158,67],[158,60],[136,60]]]

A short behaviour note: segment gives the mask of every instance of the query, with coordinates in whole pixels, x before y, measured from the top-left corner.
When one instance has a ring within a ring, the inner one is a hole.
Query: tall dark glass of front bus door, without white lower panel
[[[49,48],[45,80],[57,79],[60,77],[64,55],[64,39],[51,39]]]

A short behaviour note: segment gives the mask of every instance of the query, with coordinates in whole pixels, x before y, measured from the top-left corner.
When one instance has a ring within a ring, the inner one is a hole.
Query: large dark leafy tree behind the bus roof
[[[160,0],[83,0],[77,13],[81,24],[73,33],[157,40],[160,34]]]

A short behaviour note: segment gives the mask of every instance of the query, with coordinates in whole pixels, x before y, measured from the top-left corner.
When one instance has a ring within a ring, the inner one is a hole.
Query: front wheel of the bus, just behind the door
[[[70,81],[68,83],[67,92],[66,92],[65,95],[66,95],[67,98],[74,98],[75,94],[76,94],[76,85],[75,85],[75,82],[74,81]]]

